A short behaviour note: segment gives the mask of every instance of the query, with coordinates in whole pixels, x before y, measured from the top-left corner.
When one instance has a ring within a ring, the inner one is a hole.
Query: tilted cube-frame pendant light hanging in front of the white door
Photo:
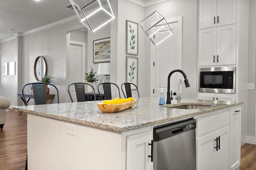
[[[167,21],[157,11],[141,21],[140,26],[155,46],[173,35]],[[165,36],[158,36],[160,32],[164,32]]]

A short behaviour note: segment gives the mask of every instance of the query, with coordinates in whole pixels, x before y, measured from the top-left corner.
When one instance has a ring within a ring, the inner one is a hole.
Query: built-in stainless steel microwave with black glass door
[[[199,68],[199,92],[236,93],[236,67]]]

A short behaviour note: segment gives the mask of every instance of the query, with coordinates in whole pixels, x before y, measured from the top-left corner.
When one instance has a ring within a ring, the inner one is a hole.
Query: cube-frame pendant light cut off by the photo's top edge
[[[109,0],[94,0],[84,7],[70,0],[80,22],[94,33],[115,19]]]

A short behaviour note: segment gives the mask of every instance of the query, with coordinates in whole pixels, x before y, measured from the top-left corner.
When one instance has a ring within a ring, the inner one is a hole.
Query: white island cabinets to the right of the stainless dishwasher
[[[241,107],[198,115],[197,170],[235,170],[240,166]]]

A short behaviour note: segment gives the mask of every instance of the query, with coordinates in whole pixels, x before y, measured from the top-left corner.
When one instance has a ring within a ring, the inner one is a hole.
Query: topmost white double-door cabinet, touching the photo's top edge
[[[199,29],[236,23],[237,0],[199,0]]]

